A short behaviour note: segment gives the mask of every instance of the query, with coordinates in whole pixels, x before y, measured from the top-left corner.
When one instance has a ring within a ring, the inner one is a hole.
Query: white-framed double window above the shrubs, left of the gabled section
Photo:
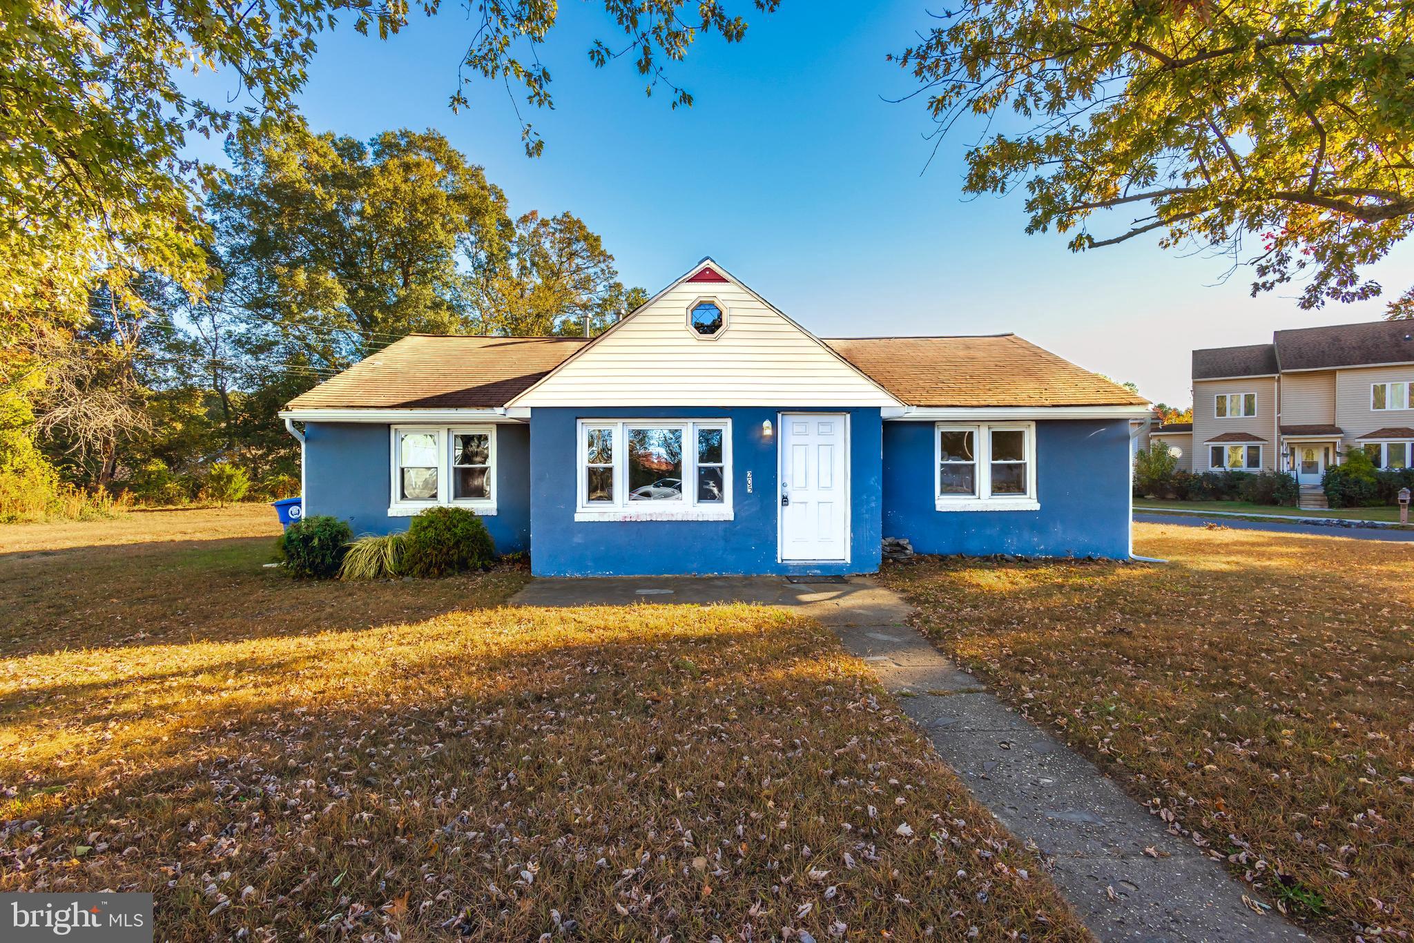
[[[390,517],[451,505],[496,513],[495,426],[395,426]]]

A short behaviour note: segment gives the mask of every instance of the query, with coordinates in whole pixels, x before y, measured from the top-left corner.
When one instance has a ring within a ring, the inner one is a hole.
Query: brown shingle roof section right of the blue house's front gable
[[[909,406],[1147,406],[1148,400],[1014,334],[824,338]]]

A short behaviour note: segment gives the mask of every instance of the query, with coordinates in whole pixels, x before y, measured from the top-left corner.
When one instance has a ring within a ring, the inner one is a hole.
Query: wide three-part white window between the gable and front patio
[[[730,420],[581,420],[575,520],[730,520]]]

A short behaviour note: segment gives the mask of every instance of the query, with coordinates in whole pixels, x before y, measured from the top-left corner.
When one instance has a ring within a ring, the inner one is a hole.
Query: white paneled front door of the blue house
[[[781,558],[846,560],[850,437],[841,413],[781,414]]]

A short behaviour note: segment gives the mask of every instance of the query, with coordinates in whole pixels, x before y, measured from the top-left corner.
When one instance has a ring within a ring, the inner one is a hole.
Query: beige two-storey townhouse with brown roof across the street
[[[1350,448],[1414,461],[1414,321],[1277,331],[1271,344],[1193,351],[1192,471],[1290,471],[1321,484]]]

